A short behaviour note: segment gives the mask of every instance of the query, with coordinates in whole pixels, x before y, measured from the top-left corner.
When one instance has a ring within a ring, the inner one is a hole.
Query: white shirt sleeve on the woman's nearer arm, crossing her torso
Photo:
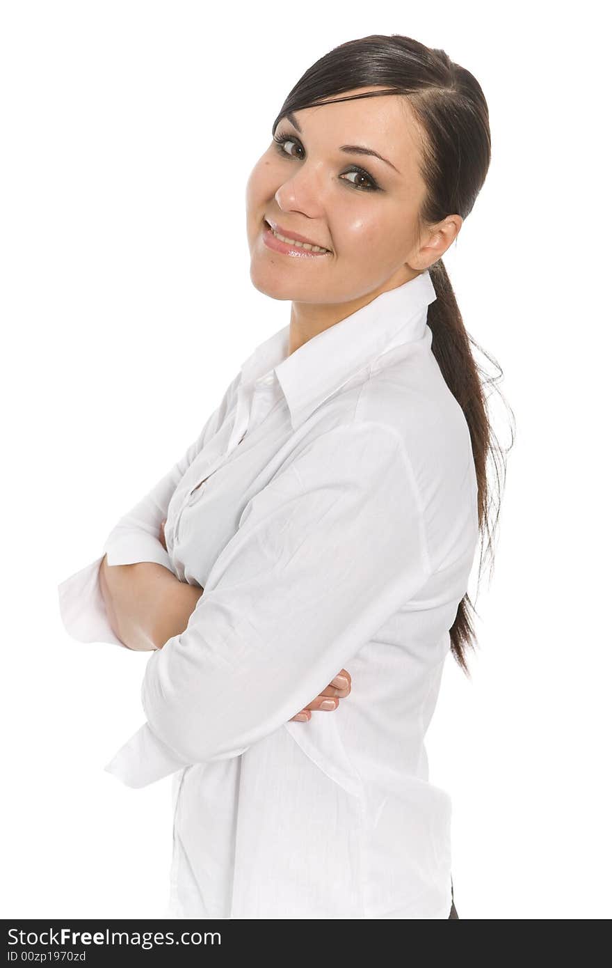
[[[140,787],[239,756],[329,685],[430,573],[399,435],[360,422],[310,441],[248,501],[186,630],[149,658],[147,721],[104,769]]]

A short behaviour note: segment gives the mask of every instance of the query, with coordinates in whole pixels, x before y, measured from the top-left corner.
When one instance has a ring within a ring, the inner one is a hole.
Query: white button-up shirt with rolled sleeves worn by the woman
[[[103,547],[204,589],[152,652],[146,722],[105,767],[131,787],[173,775],[178,917],[449,917],[452,803],[424,735],[478,488],[431,352],[434,299],[423,272],[291,354],[280,329]],[[122,646],[101,560],[60,585],[62,619]],[[291,721],[343,667],[338,708]]]

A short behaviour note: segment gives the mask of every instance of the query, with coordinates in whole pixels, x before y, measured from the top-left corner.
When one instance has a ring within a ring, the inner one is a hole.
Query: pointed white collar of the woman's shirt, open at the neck
[[[335,390],[371,366],[388,350],[420,340],[427,306],[436,298],[428,270],[381,292],[289,355],[287,324],[259,344],[241,367],[240,385],[248,387],[274,371],[295,430]]]

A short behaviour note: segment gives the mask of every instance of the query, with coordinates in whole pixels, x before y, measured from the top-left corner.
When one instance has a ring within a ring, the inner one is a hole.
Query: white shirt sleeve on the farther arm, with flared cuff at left
[[[66,631],[78,642],[107,642],[128,648],[110,627],[100,587],[100,565],[106,555],[109,565],[156,561],[174,573],[170,556],[160,542],[160,525],[181,478],[202,448],[219,430],[235,379],[227,387],[219,407],[183,456],[155,487],[123,515],[108,534],[102,555],[85,565],[58,586],[60,616]]]

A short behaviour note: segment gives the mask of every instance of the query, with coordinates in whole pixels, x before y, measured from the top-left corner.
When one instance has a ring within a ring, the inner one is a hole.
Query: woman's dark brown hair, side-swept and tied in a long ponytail
[[[384,86],[386,90],[339,97],[346,91],[377,86]],[[420,212],[422,226],[434,225],[452,214],[465,219],[481,191],[491,160],[488,107],[476,77],[454,64],[445,50],[427,47],[400,34],[373,34],[336,46],[308,68],[290,91],[272,126],[273,136],[278,121],[290,111],[327,104],[326,99],[343,101],[383,94],[406,98],[422,132],[420,165],[426,186]],[[427,313],[427,324],[433,334],[431,349],[449,389],[463,409],[472,440],[482,539],[480,587],[482,563],[487,553],[491,565],[493,561],[493,529],[499,517],[506,477],[505,452],[492,430],[485,385],[496,382],[502,373],[495,364],[498,376],[487,377],[479,367],[472,346],[480,350],[481,347],[465,329],[442,259],[429,266],[429,271],[437,297]],[[487,353],[484,355],[494,362]],[[493,499],[486,472],[489,458],[496,483],[493,528]],[[477,643],[470,612],[476,610],[465,594],[452,624],[451,649],[468,676],[465,648],[474,649]]]

